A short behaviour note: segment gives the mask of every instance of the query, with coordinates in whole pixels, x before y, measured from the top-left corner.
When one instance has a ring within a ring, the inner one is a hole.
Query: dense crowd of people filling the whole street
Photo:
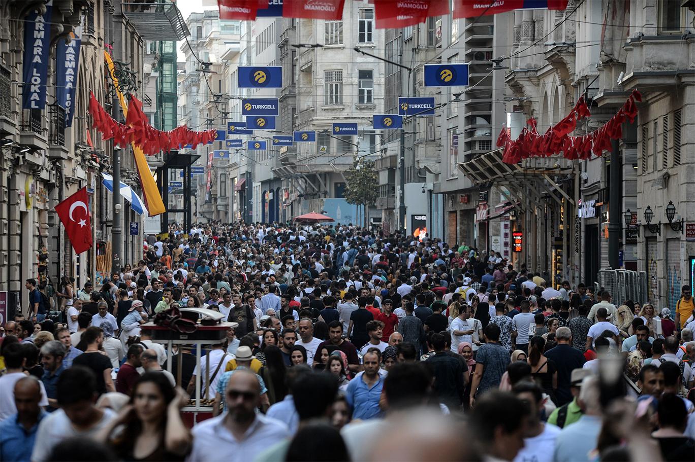
[[[695,459],[689,286],[659,309],[427,235],[188,231],[99,287],[26,281],[0,460]],[[186,307],[233,323],[199,366],[143,328]]]

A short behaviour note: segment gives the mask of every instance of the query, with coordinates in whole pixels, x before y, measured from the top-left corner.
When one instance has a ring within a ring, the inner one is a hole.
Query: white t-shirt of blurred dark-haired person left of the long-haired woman
[[[58,411],[51,413],[50,416],[44,418],[39,424],[31,460],[33,462],[47,461],[53,447],[67,438],[77,436],[83,439],[95,436],[99,430],[106,427],[108,422],[116,416],[111,409],[102,409],[102,411],[104,411],[104,416],[88,431],[77,431],[72,426],[72,422],[67,418],[63,409],[58,409]]]

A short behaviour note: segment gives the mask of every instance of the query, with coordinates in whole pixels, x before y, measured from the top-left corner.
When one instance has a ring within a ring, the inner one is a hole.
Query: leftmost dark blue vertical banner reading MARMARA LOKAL
[[[44,109],[46,105],[46,79],[51,59],[51,10],[53,0],[46,3],[46,12],[39,15],[33,10],[24,19],[24,65],[22,78],[22,108]]]

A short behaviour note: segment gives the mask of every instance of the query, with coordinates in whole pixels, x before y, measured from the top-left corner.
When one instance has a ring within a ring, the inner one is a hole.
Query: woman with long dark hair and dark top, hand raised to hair
[[[129,404],[99,432],[121,460],[183,461],[193,437],[181,420],[188,402],[183,390],[172,388],[161,373],[145,373],[133,388]],[[113,435],[116,427],[122,431]]]

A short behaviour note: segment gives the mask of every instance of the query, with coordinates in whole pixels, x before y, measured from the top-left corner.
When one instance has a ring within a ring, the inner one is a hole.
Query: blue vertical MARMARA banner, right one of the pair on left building
[[[75,87],[77,85],[77,69],[80,62],[81,28],[76,28],[70,34],[72,40],[68,44],[65,39],[56,45],[56,99],[58,105],[65,109],[65,127],[72,126],[75,114]]]

